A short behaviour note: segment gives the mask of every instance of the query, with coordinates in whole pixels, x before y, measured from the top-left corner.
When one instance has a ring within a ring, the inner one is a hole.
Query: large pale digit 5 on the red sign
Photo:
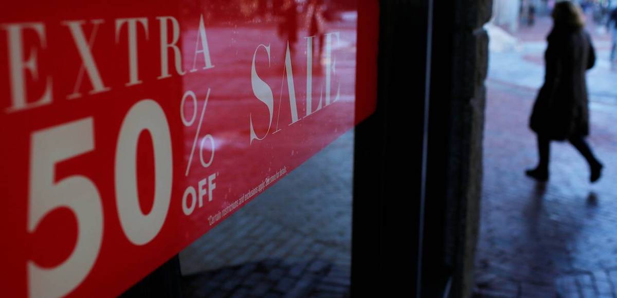
[[[77,219],[77,242],[68,258],[54,268],[28,262],[31,297],[60,297],[86,278],[103,237],[101,195],[92,180],[73,175],[56,179],[56,163],[94,150],[93,118],[32,134],[28,231],[34,233],[49,212],[70,209]]]

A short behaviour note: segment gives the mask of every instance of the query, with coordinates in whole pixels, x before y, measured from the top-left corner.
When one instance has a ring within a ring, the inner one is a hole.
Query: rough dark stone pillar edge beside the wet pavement
[[[492,0],[459,0],[455,5],[452,65],[452,129],[449,156],[451,199],[457,200],[453,296],[468,297],[473,289],[473,264],[478,241],[482,186],[482,136],[489,59],[489,38],[483,25],[491,19]]]

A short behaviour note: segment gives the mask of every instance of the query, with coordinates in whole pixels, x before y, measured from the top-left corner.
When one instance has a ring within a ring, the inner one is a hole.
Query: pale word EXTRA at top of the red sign
[[[176,73],[185,75],[186,70],[182,69],[182,53],[178,42],[180,40],[180,23],[175,17],[160,16],[156,17],[159,20],[160,27],[160,75],[157,79],[172,77],[169,70],[169,53],[172,52],[173,62]],[[126,27],[126,41],[128,44],[128,82],[125,86],[134,86],[143,83],[139,78],[139,47],[138,36],[139,28],[143,30],[143,34],[147,39],[148,35],[148,19],[145,17],[122,18],[115,19],[115,43],[120,43],[122,38],[123,28]],[[85,33],[85,27],[91,25],[92,30],[89,35]],[[83,96],[80,89],[83,84],[83,78],[88,76],[92,89],[88,94],[97,94],[110,91],[111,86],[104,83],[104,76],[101,75],[96,60],[92,52],[94,41],[97,38],[101,26],[104,26],[105,21],[101,19],[94,20],[66,20],[61,21],[60,25],[68,29],[68,33],[75,43],[81,65],[77,73],[77,78],[73,84],[72,92],[66,95],[67,99],[77,99]],[[169,24],[171,24],[171,36],[169,35]],[[10,99],[11,104],[4,109],[4,112],[18,112],[21,110],[32,109],[35,107],[46,106],[52,103],[52,77],[43,76],[39,73],[39,52],[47,48],[46,27],[43,23],[7,23],[1,24],[0,28],[7,31],[7,47],[9,53],[9,79],[10,79]],[[39,46],[25,44],[24,35],[33,31],[39,39]],[[197,64],[203,60],[204,65],[198,67]],[[199,18],[199,29],[195,40],[195,52],[193,56],[193,68],[189,72],[197,72],[197,70],[207,70],[213,68],[212,58],[210,57],[210,48],[207,35],[205,33],[204,15]],[[27,80],[28,75],[32,78]],[[33,96],[28,94],[27,90],[31,89],[28,84],[43,84],[44,89],[42,94]]]

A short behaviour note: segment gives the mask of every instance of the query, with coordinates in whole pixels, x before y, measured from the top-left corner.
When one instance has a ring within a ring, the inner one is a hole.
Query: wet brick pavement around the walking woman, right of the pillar
[[[617,73],[608,65],[607,36],[594,28],[588,141],[605,165],[602,179],[590,184],[585,160],[558,142],[548,183],[524,175],[537,162],[528,117],[542,84],[549,26],[539,20],[515,35],[518,50],[491,52],[478,297],[617,297]]]

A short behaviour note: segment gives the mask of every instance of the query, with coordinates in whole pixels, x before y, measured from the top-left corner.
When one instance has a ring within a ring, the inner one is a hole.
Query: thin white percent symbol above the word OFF
[[[191,117],[190,120],[186,120],[186,117],[184,115],[184,103],[189,97],[191,98],[191,101],[193,101],[193,117]],[[201,116],[199,116],[199,123],[197,124],[197,132],[195,133],[195,138],[193,139],[193,147],[191,148],[191,155],[189,155],[189,162],[186,165],[186,172],[184,172],[184,176],[189,175],[189,170],[191,169],[191,163],[193,163],[193,155],[195,154],[195,147],[197,147],[197,140],[199,139],[199,131],[201,130],[201,125],[204,122],[205,107],[208,105],[209,98],[210,98],[210,88],[208,88],[208,93],[205,96],[204,107],[202,107]],[[195,123],[195,120],[197,118],[197,97],[195,96],[195,93],[191,90],[186,91],[184,93],[184,96],[182,96],[182,102],[180,104],[180,117],[182,118],[182,123],[186,127],[193,126],[193,123]],[[210,144],[212,144],[212,154],[210,154],[210,160],[208,160],[208,162],[204,161],[204,143],[206,139],[209,139]],[[204,138],[202,138],[201,142],[199,143],[199,160],[201,161],[201,165],[204,168],[210,167],[210,165],[212,164],[212,161],[214,160],[214,138],[210,134],[205,135]]]

